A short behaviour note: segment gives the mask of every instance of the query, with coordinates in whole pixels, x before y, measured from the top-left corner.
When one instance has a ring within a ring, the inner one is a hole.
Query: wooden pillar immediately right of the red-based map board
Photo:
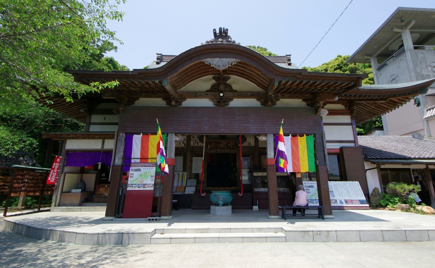
[[[168,133],[167,135],[167,165],[169,167],[169,174],[164,175],[163,178],[163,193],[162,193],[162,207],[161,219],[172,219],[172,199],[174,192],[174,170],[175,170],[175,134]]]

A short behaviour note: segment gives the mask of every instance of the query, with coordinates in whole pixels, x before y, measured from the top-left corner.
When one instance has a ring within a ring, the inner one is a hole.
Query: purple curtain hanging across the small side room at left
[[[86,167],[98,164],[101,162],[110,167],[112,164],[112,152],[67,152],[67,159],[65,166],[69,167]]]

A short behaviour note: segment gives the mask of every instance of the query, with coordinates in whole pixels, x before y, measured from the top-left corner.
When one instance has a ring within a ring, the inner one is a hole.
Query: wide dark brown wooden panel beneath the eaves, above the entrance
[[[118,132],[180,134],[321,134],[321,117],[311,107],[136,107],[120,114]]]

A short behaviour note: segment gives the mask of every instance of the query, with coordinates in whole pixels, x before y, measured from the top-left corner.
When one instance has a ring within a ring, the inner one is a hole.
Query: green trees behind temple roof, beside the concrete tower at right
[[[373,70],[371,64],[366,63],[347,63],[349,55],[338,55],[333,60],[330,60],[318,67],[302,67],[310,72],[325,72],[325,73],[343,73],[343,74],[368,74],[368,77],[362,80],[363,85],[373,85]],[[373,128],[382,128],[381,117],[375,117],[357,126],[358,135],[364,135]]]

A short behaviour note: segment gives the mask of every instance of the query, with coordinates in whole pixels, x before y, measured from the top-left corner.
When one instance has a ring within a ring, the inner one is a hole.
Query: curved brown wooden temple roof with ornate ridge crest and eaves
[[[300,99],[315,107],[316,113],[320,113],[326,104],[342,104],[359,124],[425,93],[425,89],[435,81],[366,86],[361,84],[367,77],[365,74],[297,69],[291,64],[290,55],[264,57],[228,39],[229,36],[225,36],[228,42],[219,43],[218,38],[222,36],[215,34],[215,42],[207,41],[177,56],[157,54],[157,60],[148,69],[112,72],[70,70],[74,80],[82,84],[117,80],[119,85],[101,90],[99,94],[86,94],[72,103],[65,102],[62,97],[49,98],[53,103],[47,106],[86,121],[86,111],[100,103],[116,103],[122,112],[126,105],[134,104],[139,98],[160,98],[169,106],[179,106],[189,98],[210,99],[218,106],[228,105],[235,98],[256,99],[264,106],[274,106],[281,99]],[[219,90],[204,88],[200,92],[182,90],[191,82],[207,76],[217,77],[217,84],[222,87]],[[248,80],[262,91],[228,90],[225,77],[230,76]]]

